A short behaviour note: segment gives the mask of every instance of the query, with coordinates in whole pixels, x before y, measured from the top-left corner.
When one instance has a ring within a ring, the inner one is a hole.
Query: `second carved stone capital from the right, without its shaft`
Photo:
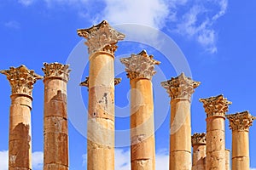
[[[229,110],[229,105],[232,102],[224,98],[223,95],[211,97],[207,99],[200,99],[203,103],[207,117],[209,116],[225,116],[225,113]]]

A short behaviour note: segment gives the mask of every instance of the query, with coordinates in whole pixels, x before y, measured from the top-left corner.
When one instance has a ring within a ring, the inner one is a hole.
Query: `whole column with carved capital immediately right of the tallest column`
[[[131,84],[131,169],[154,170],[154,99],[151,79],[160,62],[143,50],[120,59]]]

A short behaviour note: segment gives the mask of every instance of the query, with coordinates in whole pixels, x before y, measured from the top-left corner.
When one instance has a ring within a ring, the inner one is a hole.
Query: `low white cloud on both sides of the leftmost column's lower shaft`
[[[8,150],[0,151],[0,170],[8,170]],[[44,165],[44,153],[37,151],[32,153],[32,169],[41,170]]]

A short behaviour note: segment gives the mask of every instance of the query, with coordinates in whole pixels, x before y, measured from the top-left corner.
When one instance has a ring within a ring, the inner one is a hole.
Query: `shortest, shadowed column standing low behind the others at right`
[[[205,170],[207,162],[206,133],[194,133],[192,136],[192,170]]]

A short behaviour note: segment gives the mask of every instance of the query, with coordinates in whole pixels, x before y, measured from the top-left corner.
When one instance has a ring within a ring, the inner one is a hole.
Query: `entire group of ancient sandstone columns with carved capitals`
[[[125,35],[106,20],[79,29],[86,39],[90,59],[89,77],[81,82],[89,91],[87,169],[114,169],[114,52]],[[145,50],[120,59],[131,85],[131,170],[155,169],[154,94],[155,65]],[[9,109],[9,170],[32,169],[32,89],[44,78],[44,170],[68,170],[67,83],[69,65],[44,63],[44,77],[25,65],[0,71],[11,86]],[[164,80],[163,80],[164,81]],[[191,136],[191,96],[201,82],[184,73],[158,86],[171,97],[170,170],[249,170],[249,127],[256,117],[248,111],[226,115],[231,104],[224,95],[200,99],[206,112],[206,133]],[[78,84],[79,86],[79,84]],[[225,145],[225,118],[230,121],[232,149]],[[169,133],[169,132],[166,132]],[[168,139],[166,139],[168,142]],[[193,152],[191,151],[193,147]],[[231,152],[231,161],[230,161]],[[192,154],[193,153],[193,154]],[[166,162],[168,163],[168,162]],[[231,165],[231,166],[230,166]]]

